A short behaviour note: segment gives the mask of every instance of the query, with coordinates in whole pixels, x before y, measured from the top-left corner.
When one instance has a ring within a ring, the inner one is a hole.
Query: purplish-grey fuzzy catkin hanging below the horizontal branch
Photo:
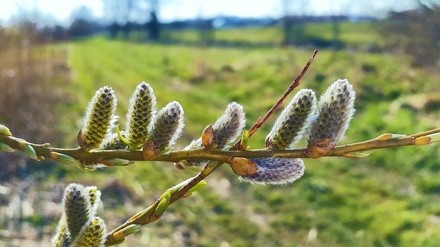
[[[241,180],[259,185],[285,185],[304,174],[304,162],[300,158],[250,158],[258,164],[256,174],[240,176]]]

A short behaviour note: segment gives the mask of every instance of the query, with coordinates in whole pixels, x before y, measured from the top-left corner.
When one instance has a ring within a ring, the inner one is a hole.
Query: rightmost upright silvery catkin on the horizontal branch
[[[309,141],[329,139],[329,145],[336,145],[349,128],[354,102],[355,91],[347,79],[333,82],[319,99],[318,118],[311,124]]]

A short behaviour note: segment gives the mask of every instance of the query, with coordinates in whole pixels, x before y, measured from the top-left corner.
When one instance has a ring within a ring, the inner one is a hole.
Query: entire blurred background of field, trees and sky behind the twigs
[[[0,25],[0,123],[33,143],[76,147],[85,106],[104,85],[117,93],[123,124],[141,81],[159,107],[184,107],[177,149],[232,101],[244,106],[250,128],[314,49],[299,88],[320,95],[348,78],[357,93],[342,143],[440,126],[438,0],[17,0],[1,1]],[[263,148],[274,118],[252,148]],[[240,183],[224,166],[121,246],[440,243],[439,145],[305,165],[303,178],[285,187]],[[102,191],[98,215],[111,230],[193,176],[148,162],[85,173],[20,152],[1,152],[0,167],[0,246],[47,246],[69,183]]]

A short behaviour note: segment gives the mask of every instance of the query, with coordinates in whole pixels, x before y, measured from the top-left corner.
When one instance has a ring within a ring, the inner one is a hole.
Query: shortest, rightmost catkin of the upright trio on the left
[[[171,148],[184,129],[184,108],[179,102],[170,102],[159,110],[148,139],[158,150]]]

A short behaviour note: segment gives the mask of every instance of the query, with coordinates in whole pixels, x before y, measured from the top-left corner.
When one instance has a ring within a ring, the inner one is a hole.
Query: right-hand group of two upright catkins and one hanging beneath
[[[349,127],[354,110],[355,92],[346,80],[337,80],[321,95],[318,106],[311,90],[300,90],[276,119],[266,137],[271,150],[292,148],[308,134],[308,150],[312,158],[322,156],[336,145]],[[254,158],[256,174],[241,180],[257,184],[283,185],[304,174],[300,158]]]

